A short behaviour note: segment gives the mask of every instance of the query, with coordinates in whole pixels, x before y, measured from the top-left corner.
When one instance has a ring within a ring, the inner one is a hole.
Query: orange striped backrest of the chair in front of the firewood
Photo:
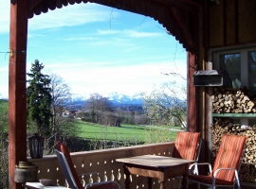
[[[243,150],[246,146],[246,140],[246,136],[224,134],[214,162],[212,173],[218,168],[235,168],[239,170]],[[233,170],[219,171],[216,178],[233,181],[235,172]]]

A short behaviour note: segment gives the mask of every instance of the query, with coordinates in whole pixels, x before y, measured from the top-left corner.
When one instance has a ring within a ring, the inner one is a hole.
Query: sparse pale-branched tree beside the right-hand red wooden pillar
[[[143,110],[154,125],[186,128],[187,92],[175,82],[164,83],[151,94],[143,94]]]

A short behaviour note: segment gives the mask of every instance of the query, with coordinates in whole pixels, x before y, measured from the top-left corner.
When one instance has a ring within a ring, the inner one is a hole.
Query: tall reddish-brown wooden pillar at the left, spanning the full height
[[[22,188],[14,181],[15,165],[27,161],[27,5],[10,0],[9,26],[9,188]]]

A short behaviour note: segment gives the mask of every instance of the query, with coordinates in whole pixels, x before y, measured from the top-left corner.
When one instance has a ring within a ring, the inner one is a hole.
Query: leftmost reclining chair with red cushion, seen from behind
[[[86,189],[86,188],[92,188],[92,189],[120,189],[119,183],[114,180],[107,180],[107,181],[100,181],[100,182],[93,182],[93,183],[87,183],[85,186],[82,186],[82,182],[79,179],[79,175],[77,174],[77,171],[74,167],[74,164],[71,160],[69,151],[67,146],[65,146],[62,143],[57,143],[55,145],[55,152],[57,154],[58,161],[62,167],[62,170],[64,172],[65,180],[68,183],[68,187],[72,189]],[[97,172],[89,172],[86,174],[82,174],[82,176],[90,175],[90,174],[98,174],[101,176],[100,173]],[[102,177],[103,179],[103,177]]]

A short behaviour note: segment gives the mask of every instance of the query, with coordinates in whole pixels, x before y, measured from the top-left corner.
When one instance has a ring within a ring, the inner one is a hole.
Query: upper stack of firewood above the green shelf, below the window
[[[239,90],[216,87],[213,89],[211,100],[212,112],[256,112],[256,98],[254,97],[254,94],[249,95],[249,92],[246,87],[243,87]]]

